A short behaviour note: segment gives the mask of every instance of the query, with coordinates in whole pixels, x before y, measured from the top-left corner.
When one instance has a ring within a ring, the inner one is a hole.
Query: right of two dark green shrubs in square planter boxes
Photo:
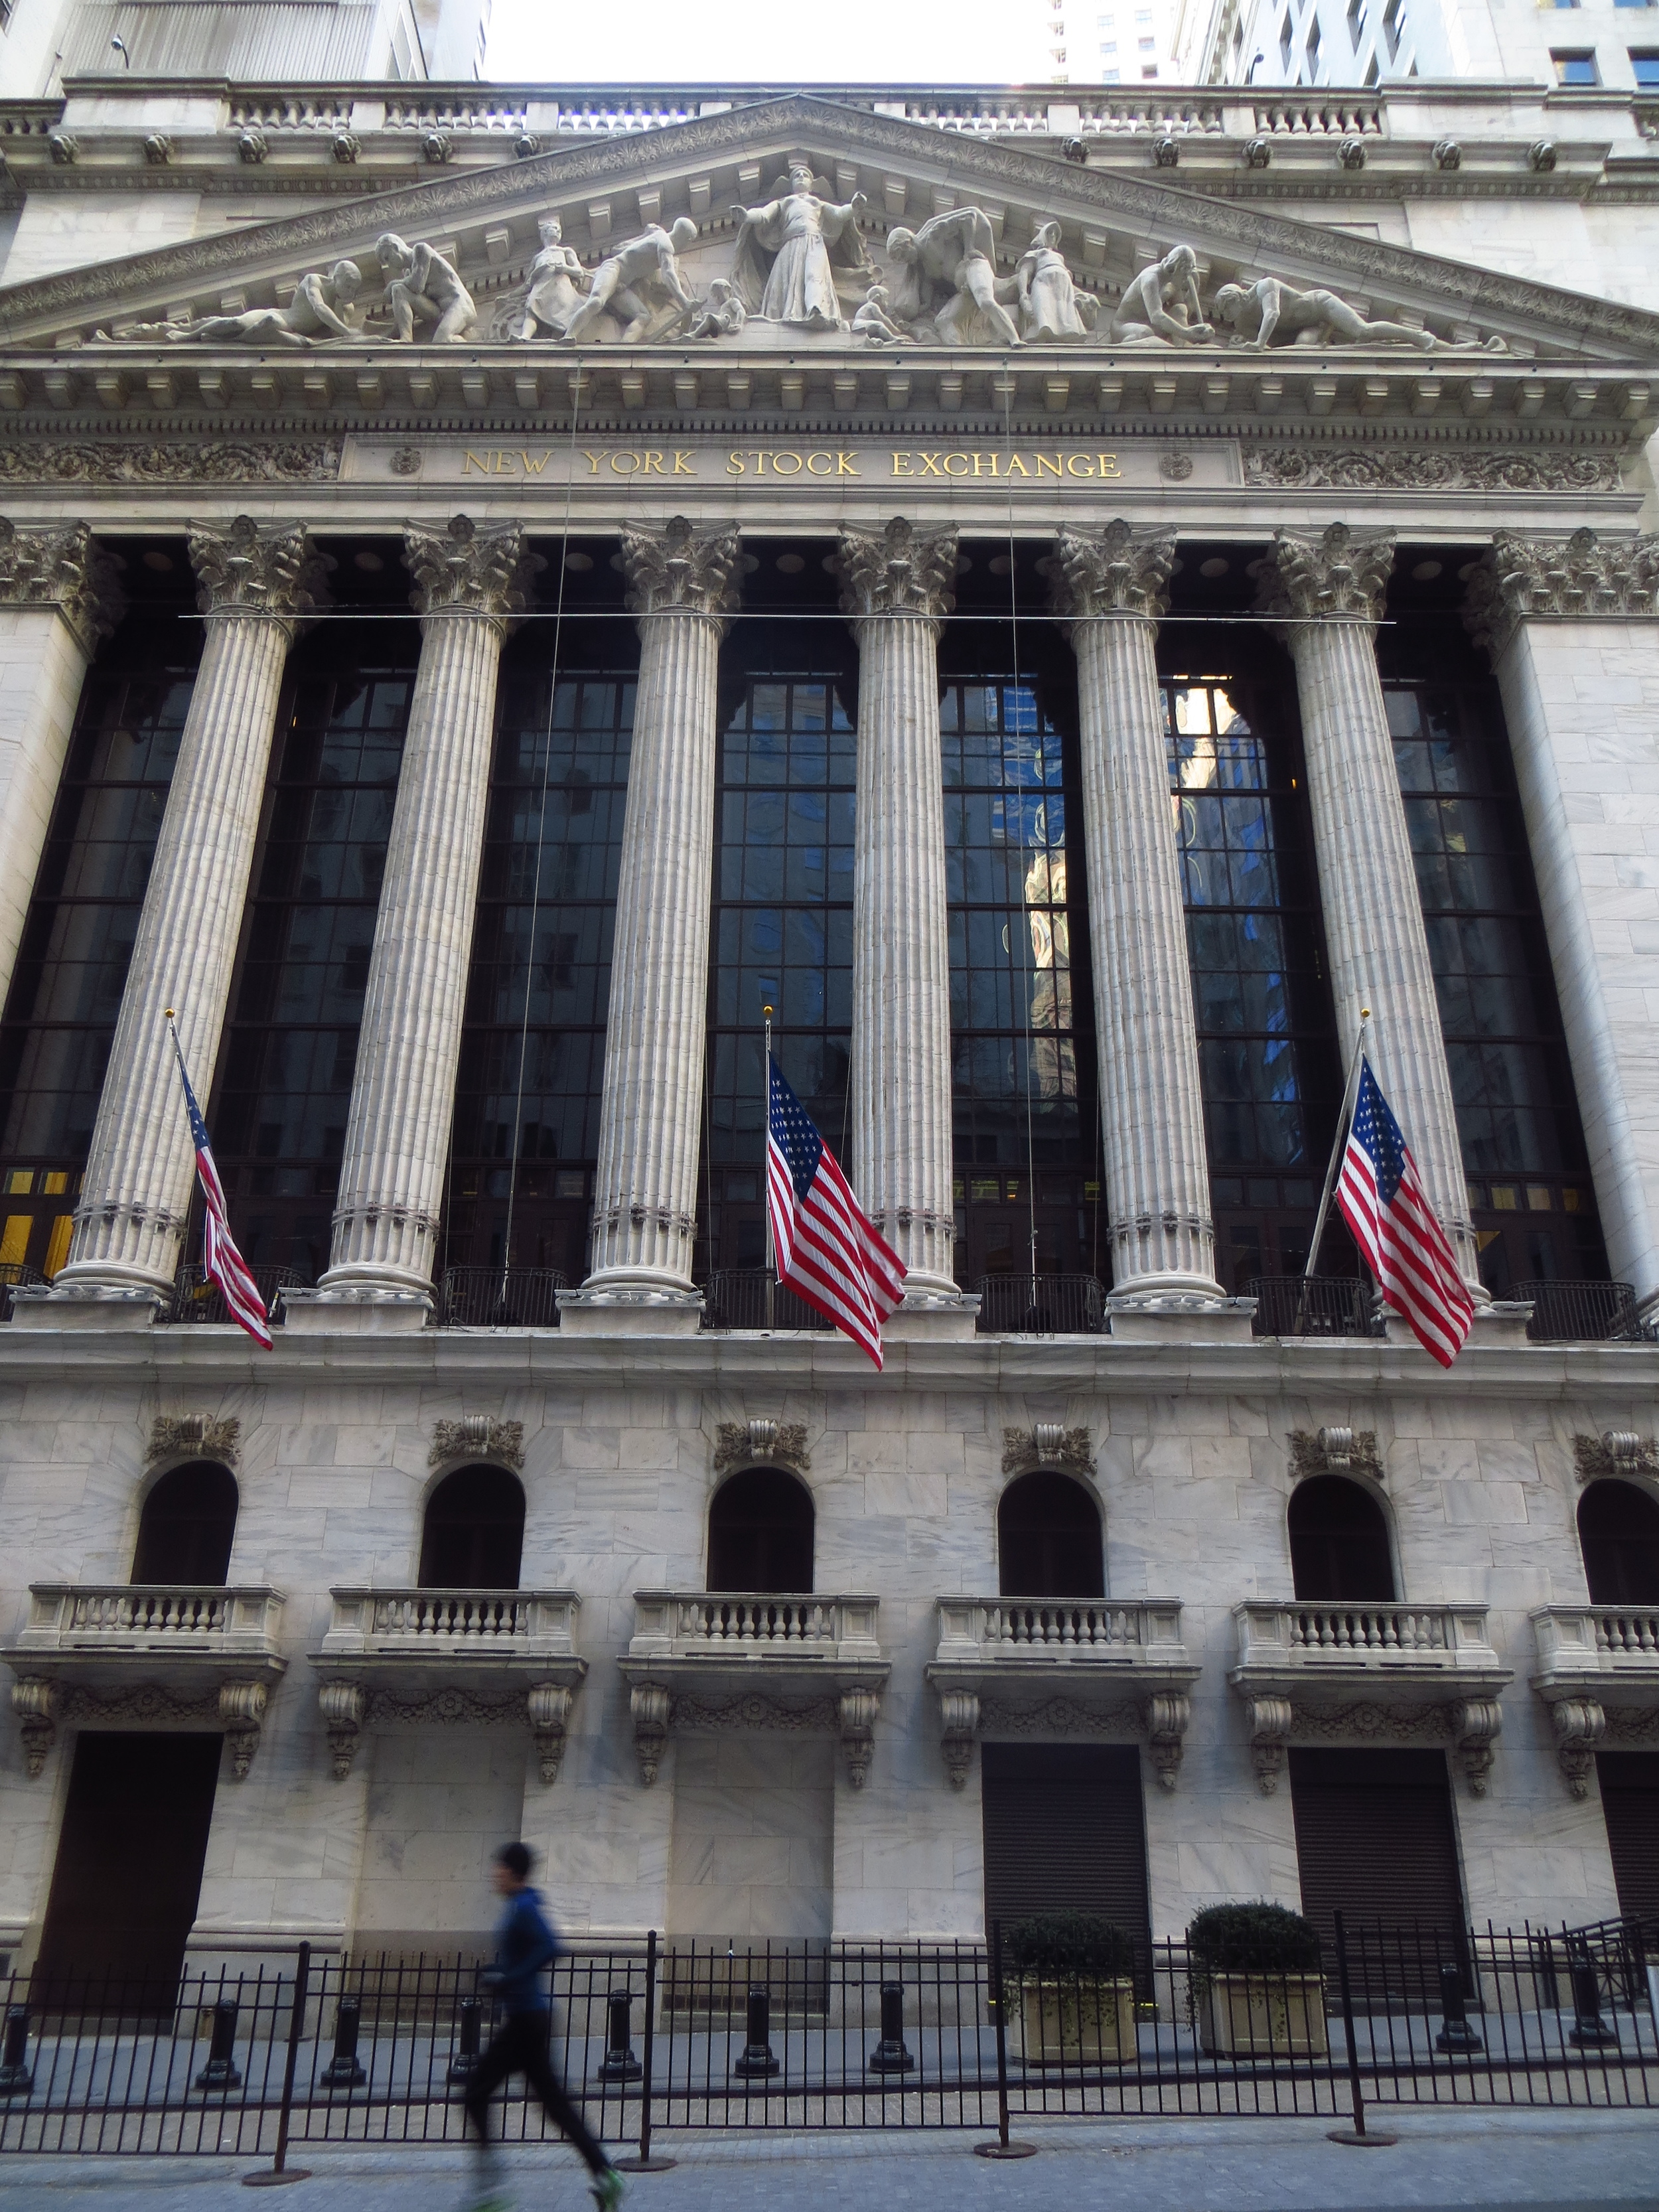
[[[1323,2057],[1318,1929],[1283,1905],[1210,1905],[1186,1931],[1192,2011],[1210,2053]]]

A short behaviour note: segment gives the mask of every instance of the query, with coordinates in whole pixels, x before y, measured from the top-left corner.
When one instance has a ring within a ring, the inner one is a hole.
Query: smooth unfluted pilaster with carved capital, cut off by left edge
[[[0,518],[0,1002],[86,664],[122,617],[117,568],[84,522],[20,531]]]

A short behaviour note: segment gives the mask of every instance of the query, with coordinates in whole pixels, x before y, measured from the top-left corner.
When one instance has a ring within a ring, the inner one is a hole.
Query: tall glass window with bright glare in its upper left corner
[[[1237,1292],[1307,1263],[1336,1106],[1329,987],[1298,761],[1267,686],[1170,677],[1164,697],[1217,1267]]]

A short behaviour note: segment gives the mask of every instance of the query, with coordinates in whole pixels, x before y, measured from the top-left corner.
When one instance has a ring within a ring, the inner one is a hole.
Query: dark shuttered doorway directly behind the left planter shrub
[[[1141,1754],[1133,1743],[987,1743],[984,1929],[1106,1913],[1150,1944]]]

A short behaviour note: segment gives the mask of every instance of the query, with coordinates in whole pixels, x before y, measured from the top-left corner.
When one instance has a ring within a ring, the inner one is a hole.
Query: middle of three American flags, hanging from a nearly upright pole
[[[836,1155],[768,1060],[765,1206],[787,1283],[880,1367],[880,1325],[905,1296],[905,1263],[858,1206]]]

